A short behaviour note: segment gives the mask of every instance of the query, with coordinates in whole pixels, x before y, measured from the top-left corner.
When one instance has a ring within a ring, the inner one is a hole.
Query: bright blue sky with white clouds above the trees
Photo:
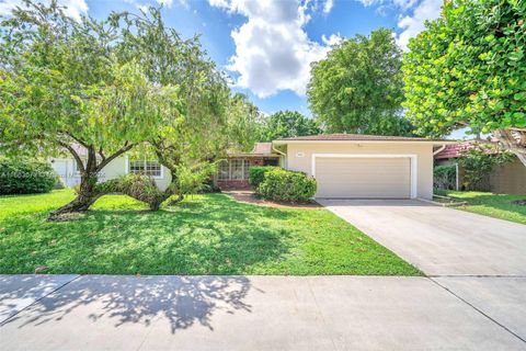
[[[41,0],[43,1],[43,0]],[[20,0],[0,0],[5,14]],[[201,35],[217,65],[265,113],[297,110],[310,115],[305,97],[309,65],[330,45],[380,26],[405,47],[443,0],[59,0],[72,16],[104,19],[112,11],[163,5],[168,24],[183,36]]]

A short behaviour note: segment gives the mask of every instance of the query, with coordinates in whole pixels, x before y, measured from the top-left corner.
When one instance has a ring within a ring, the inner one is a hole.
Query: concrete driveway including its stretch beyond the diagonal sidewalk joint
[[[525,225],[420,201],[318,202],[526,340]]]

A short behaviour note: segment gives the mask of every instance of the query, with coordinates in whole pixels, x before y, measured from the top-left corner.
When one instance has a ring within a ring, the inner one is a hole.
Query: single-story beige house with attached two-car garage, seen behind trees
[[[251,152],[229,154],[214,181],[220,189],[248,189],[251,167],[281,166],[315,177],[317,197],[432,199],[434,152],[453,143],[356,134],[284,138],[259,143]],[[66,186],[79,183],[75,160],[52,162]],[[170,183],[170,172],[157,161],[127,156],[104,168],[101,179],[136,172],[151,176],[161,189]]]

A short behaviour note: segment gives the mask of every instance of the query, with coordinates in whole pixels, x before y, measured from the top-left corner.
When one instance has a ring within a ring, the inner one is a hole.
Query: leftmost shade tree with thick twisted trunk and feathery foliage
[[[156,128],[157,103],[170,89],[149,83],[136,63],[118,63],[116,26],[77,22],[55,1],[26,2],[0,35],[0,146],[15,155],[69,152],[80,188],[55,215],[85,211],[100,196],[102,169]]]

